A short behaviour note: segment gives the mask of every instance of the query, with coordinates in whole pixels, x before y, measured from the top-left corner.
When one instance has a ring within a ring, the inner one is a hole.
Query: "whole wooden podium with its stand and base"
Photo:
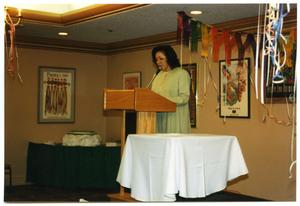
[[[126,110],[136,111],[136,133],[155,133],[156,112],[175,112],[176,104],[147,88],[104,89],[104,110],[122,110],[121,157],[125,145]],[[135,201],[121,186],[119,194],[108,195],[114,201]]]

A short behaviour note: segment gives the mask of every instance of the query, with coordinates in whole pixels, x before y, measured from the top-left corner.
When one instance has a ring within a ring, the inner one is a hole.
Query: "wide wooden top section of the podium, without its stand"
[[[138,112],[175,112],[176,104],[147,88],[129,90],[104,89],[104,110]]]

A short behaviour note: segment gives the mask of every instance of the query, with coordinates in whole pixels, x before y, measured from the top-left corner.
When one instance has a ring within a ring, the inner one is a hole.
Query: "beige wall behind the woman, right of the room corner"
[[[242,152],[249,169],[249,175],[240,181],[234,181],[229,190],[243,194],[266,198],[270,200],[295,200],[295,178],[289,179],[291,127],[284,127],[267,119],[262,121],[266,110],[255,99],[255,91],[251,89],[251,118],[250,119],[223,119],[216,112],[218,106],[217,93],[212,81],[207,87],[207,98],[203,107],[199,103],[203,100],[203,60],[197,54],[190,54],[186,49],[181,52],[181,47],[175,47],[177,54],[181,56],[182,63],[197,63],[198,68],[198,106],[197,128],[193,133],[229,134],[238,137]],[[222,49],[222,48],[221,48]],[[247,51],[249,57],[252,53]],[[234,51],[232,58],[237,58]],[[220,59],[224,59],[222,50]],[[251,60],[252,78],[254,79],[253,60]],[[151,80],[155,68],[151,62],[151,50],[141,52],[129,52],[108,57],[108,86],[122,88],[122,73],[141,71],[142,86],[146,86]],[[219,85],[218,63],[212,63],[213,80]],[[206,71],[207,74],[207,71]],[[267,105],[268,106],[268,105]],[[290,106],[290,111],[291,111]],[[285,104],[273,105],[273,114],[281,120],[287,121]],[[114,113],[107,118],[107,135],[119,138],[120,113]],[[295,175],[295,170],[294,170]]]

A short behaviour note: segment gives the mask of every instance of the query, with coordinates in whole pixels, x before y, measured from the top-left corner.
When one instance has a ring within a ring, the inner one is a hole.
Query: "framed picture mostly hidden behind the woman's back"
[[[196,112],[196,99],[197,99],[197,64],[183,64],[182,68],[187,70],[191,77],[190,86],[190,99],[189,99],[189,109],[190,109],[190,123],[192,128],[197,127],[197,112]]]

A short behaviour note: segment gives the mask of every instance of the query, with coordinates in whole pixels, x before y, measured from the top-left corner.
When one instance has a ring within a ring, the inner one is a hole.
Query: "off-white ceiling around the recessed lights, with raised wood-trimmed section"
[[[296,8],[296,4],[291,7]],[[78,10],[76,14],[73,12],[73,15],[78,17],[75,20],[41,12],[39,16],[32,17],[33,11],[24,10],[16,35],[17,40],[25,43],[39,41],[41,44],[44,39],[48,42],[71,42],[69,46],[74,42],[81,42],[81,45],[85,43],[87,46],[94,44],[105,49],[105,45],[116,42],[174,34],[177,30],[178,11],[185,11],[187,15],[205,24],[218,25],[237,19],[256,17],[259,8],[262,13],[263,4],[260,6],[259,4],[139,4],[112,8],[102,13],[94,8],[94,11],[85,16],[80,13],[88,13],[87,10]],[[91,10],[92,7],[89,8],[89,11]],[[191,10],[201,10],[203,14],[194,16],[189,14]],[[29,13],[31,15],[27,15]],[[48,18],[42,18],[43,15],[48,15]],[[59,36],[57,33],[61,31],[68,32],[69,35]]]

